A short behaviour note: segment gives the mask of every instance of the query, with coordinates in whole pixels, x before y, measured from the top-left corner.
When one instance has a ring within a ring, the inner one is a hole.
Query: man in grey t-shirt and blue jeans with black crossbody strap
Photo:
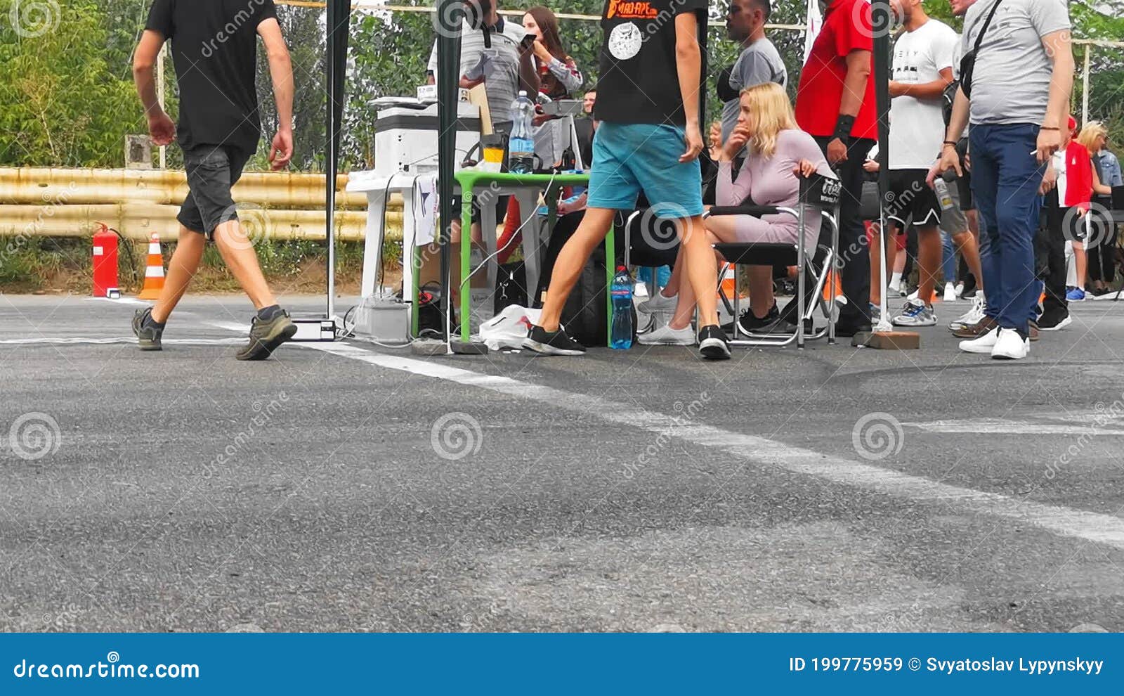
[[[957,332],[969,338],[960,343],[968,353],[1017,360],[1030,352],[1042,291],[1033,245],[1040,192],[1052,186],[1048,165],[1062,144],[1073,85],[1069,29],[1066,0],[978,0],[964,18],[964,53],[982,35],[971,99],[961,84],[928,181],[950,168],[961,173],[955,142],[970,118],[972,195],[989,253],[981,259],[986,315]]]

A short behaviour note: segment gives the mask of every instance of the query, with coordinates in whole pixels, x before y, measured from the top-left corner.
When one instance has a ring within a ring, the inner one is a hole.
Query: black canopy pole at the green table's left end
[[[448,341],[452,317],[453,288],[450,279],[451,239],[453,224],[453,157],[456,155],[457,90],[461,74],[461,20],[464,16],[462,0],[437,0],[437,202],[438,243],[441,244],[441,304],[445,309],[442,338]],[[461,231],[462,244],[469,231]],[[416,300],[415,300],[416,301]]]

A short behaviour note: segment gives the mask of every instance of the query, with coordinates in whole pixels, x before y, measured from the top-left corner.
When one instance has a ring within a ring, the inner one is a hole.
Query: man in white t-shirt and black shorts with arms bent
[[[890,80],[890,195],[886,201],[891,225],[904,228],[913,218],[917,228],[917,297],[894,317],[896,326],[933,326],[933,289],[941,268],[941,202],[925,177],[941,152],[944,137],[942,94],[952,82],[957,33],[931,19],[921,0],[891,0],[905,31],[894,45]],[[894,261],[894,245],[887,266]]]

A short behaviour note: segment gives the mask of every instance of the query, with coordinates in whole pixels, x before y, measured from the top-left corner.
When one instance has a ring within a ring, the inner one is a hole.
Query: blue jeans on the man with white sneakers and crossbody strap
[[[1023,336],[1037,314],[1042,287],[1034,273],[1039,187],[1045,174],[1034,156],[1037,137],[1033,124],[972,124],[969,135],[987,316]]]

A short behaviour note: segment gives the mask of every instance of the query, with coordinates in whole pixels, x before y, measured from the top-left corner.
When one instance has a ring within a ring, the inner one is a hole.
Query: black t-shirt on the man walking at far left
[[[257,114],[257,25],[273,0],[155,0],[146,29],[172,42],[180,87],[180,146],[227,145],[253,154]]]

